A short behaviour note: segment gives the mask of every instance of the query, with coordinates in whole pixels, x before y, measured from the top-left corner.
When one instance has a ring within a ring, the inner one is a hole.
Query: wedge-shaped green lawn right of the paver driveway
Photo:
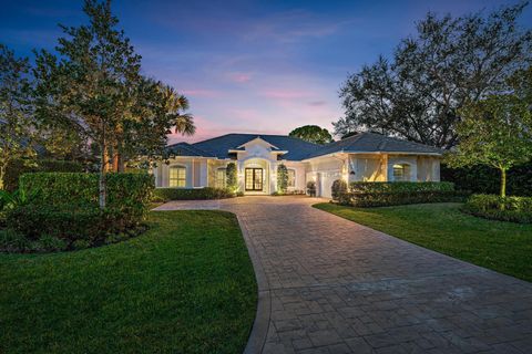
[[[532,225],[464,215],[459,204],[367,209],[332,204],[315,207],[424,248],[532,281]]]

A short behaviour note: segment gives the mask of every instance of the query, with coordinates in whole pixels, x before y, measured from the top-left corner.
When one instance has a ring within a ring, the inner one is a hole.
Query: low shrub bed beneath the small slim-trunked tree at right
[[[531,197],[501,197],[473,195],[462,207],[464,212],[501,221],[532,222]]]

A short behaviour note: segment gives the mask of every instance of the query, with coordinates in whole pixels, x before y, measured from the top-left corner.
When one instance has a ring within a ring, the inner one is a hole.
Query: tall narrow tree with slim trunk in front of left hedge
[[[37,55],[38,117],[48,129],[72,129],[98,145],[100,207],[105,207],[105,173],[116,132],[131,117],[141,56],[135,54],[111,2],[85,0],[89,24],[61,25],[60,60],[47,51]]]

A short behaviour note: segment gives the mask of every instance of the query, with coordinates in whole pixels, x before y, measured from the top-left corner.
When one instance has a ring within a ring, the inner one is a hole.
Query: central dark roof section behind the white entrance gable
[[[205,152],[211,152],[218,158],[227,158],[229,149],[238,149],[239,146],[256,139],[257,137],[272,144],[279,150],[287,150],[288,153],[283,155],[288,160],[300,160],[309,154],[314,154],[321,145],[308,143],[297,137],[286,135],[263,135],[263,134],[226,134],[218,137],[214,137],[207,140],[192,144]],[[275,149],[274,149],[275,150]]]

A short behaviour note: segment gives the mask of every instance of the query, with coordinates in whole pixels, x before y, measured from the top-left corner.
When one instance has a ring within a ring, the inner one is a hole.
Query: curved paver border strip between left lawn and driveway
[[[252,332],[249,333],[249,339],[247,340],[246,347],[244,348],[244,354],[259,354],[263,352],[264,344],[266,342],[266,335],[268,334],[269,319],[272,313],[272,295],[263,263],[255,251],[255,247],[249,233],[247,232],[246,225],[241,217],[237,216],[236,218],[241,225],[242,235],[244,236],[244,240],[246,241],[247,246],[247,252],[252,259],[258,290],[257,313],[255,314],[255,321],[253,322]]]

